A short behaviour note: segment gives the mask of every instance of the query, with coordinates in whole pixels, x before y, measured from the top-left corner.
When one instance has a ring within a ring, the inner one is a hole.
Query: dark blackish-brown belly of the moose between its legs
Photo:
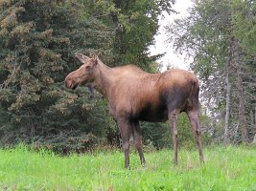
[[[139,114],[139,120],[162,122],[168,118],[167,107],[162,105],[153,107],[151,104],[147,105]]]

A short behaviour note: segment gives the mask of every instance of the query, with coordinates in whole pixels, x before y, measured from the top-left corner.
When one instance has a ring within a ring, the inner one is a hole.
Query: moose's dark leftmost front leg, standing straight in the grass
[[[125,168],[129,167],[129,138],[130,138],[130,123],[128,119],[117,119],[118,127],[120,129],[123,150],[125,153]]]

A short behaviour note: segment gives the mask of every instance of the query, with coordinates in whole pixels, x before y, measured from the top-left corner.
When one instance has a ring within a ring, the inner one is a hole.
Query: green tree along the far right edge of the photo
[[[243,86],[245,89],[244,100],[247,100],[245,110],[247,110],[247,114],[252,114],[251,118],[253,118],[253,113],[256,117],[256,3],[255,1],[251,0],[235,0],[232,4],[232,8],[232,24],[235,29],[234,35],[237,37],[243,53],[242,61],[244,63],[239,68],[239,70],[241,71],[239,76],[241,77],[242,75]],[[245,117],[244,120],[249,120],[249,117]],[[256,122],[254,122],[253,124],[252,120],[252,122],[250,123],[250,129],[253,130],[255,128],[255,124]],[[256,135],[255,129],[254,132]],[[254,136],[254,138],[256,138],[256,136]]]

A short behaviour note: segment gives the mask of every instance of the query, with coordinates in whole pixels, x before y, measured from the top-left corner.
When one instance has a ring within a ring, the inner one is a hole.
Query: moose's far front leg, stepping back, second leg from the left
[[[139,153],[141,165],[144,166],[146,164],[146,160],[143,154],[142,136],[139,121],[134,122],[132,127],[134,145]]]

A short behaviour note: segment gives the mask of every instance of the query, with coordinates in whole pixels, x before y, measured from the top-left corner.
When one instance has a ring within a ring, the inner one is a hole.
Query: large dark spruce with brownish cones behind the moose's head
[[[96,109],[105,114],[105,106],[89,100],[85,90],[78,96],[63,87],[65,75],[79,66],[75,52],[109,54],[111,31],[84,15],[86,9],[76,1],[1,1],[0,101],[9,116],[1,124],[25,128],[32,138],[51,129],[105,135],[95,115]]]

